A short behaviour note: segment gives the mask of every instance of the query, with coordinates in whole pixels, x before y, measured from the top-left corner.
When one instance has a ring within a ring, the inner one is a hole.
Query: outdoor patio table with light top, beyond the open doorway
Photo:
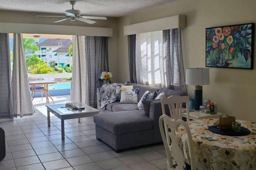
[[[35,80],[35,81],[30,81],[29,85],[31,86],[32,91],[34,92],[34,97],[32,101],[35,99],[36,96],[36,86],[41,85],[43,88],[41,91],[43,91],[46,95],[46,103],[49,103],[49,98],[52,100],[53,104],[54,101],[52,97],[49,94],[49,84],[56,84],[57,82],[54,80]]]

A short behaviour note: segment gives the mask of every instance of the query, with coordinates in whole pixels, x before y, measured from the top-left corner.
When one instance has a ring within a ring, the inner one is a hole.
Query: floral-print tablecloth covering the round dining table
[[[248,128],[250,134],[246,136],[224,136],[212,133],[208,127],[217,119],[201,119],[188,122],[191,131],[196,166],[198,170],[231,170],[256,169],[256,124],[237,120],[241,126]],[[180,127],[177,135],[179,143],[189,163],[188,148],[184,135],[185,129]]]

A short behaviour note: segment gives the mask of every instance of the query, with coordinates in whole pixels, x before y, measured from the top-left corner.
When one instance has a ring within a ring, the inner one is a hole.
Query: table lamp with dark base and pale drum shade
[[[194,108],[199,110],[203,103],[203,86],[210,84],[208,68],[187,68],[186,69],[186,84],[194,85]]]

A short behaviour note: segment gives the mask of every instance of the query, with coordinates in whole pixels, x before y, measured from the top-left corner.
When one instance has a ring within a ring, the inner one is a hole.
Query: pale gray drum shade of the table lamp
[[[208,68],[187,68],[186,69],[187,85],[207,85],[210,84]]]

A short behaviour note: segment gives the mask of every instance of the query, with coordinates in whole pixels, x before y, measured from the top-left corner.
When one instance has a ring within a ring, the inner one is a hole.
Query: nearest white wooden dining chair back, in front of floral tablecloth
[[[164,128],[163,128],[164,126]],[[195,170],[195,156],[194,156],[194,148],[193,141],[191,137],[191,133],[186,122],[180,119],[172,119],[167,115],[162,115],[159,118],[159,127],[161,136],[164,143],[164,148],[167,154],[167,169],[174,169],[174,163],[177,164],[175,169],[184,170],[186,167],[184,152],[180,148],[179,138],[177,136],[177,131],[180,126],[183,126],[186,129],[185,142],[188,145],[189,157],[190,157],[190,167],[191,170]]]

